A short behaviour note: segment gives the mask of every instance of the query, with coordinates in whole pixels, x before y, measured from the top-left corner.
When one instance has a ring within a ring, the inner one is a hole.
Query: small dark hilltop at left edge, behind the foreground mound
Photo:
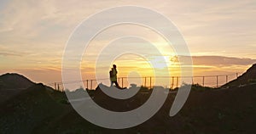
[[[0,89],[21,89],[28,88],[35,83],[19,74],[4,74],[0,75]]]

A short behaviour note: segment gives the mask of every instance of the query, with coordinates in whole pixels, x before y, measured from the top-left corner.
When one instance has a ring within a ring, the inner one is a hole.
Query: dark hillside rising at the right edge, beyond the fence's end
[[[236,80],[225,84],[223,87],[240,87],[253,83],[256,83],[256,64],[253,64],[244,74]]]

